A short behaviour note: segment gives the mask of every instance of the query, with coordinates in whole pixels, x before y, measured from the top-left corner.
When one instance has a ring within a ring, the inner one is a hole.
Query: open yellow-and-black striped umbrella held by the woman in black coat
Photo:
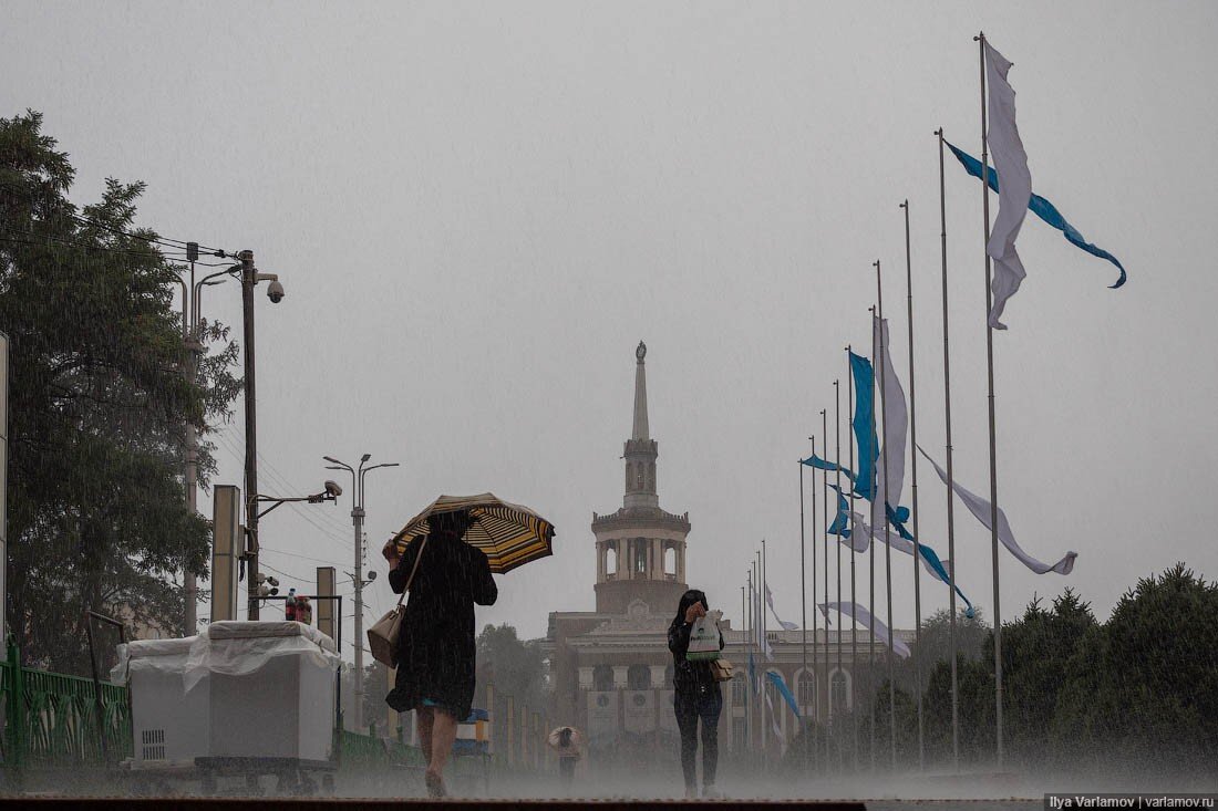
[[[549,521],[527,507],[509,504],[492,493],[441,496],[393,536],[393,544],[404,553],[410,541],[431,531],[432,515],[458,510],[468,510],[474,519],[463,539],[486,554],[496,575],[553,553],[554,526]]]

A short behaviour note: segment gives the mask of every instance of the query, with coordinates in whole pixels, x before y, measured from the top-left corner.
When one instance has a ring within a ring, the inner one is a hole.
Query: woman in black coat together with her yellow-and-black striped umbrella
[[[414,710],[432,798],[447,795],[445,765],[474,701],[474,604],[493,605],[502,574],[551,553],[553,527],[490,493],[440,497],[385,544],[389,582],[409,591],[397,679],[385,701]]]

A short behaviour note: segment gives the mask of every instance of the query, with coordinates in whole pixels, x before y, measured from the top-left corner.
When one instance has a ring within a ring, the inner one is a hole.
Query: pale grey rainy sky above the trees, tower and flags
[[[738,621],[765,537],[798,621],[797,459],[823,447],[822,408],[832,438],[838,377],[847,453],[843,348],[868,343],[876,259],[907,375],[906,197],[917,438],[943,458],[932,133],[980,150],[978,29],[1015,62],[1034,190],[1129,270],[1108,290],[1111,265],[1024,224],[1028,279],[995,336],[999,500],[1028,553],[1079,556],[1061,577],[1004,553],[1002,616],[1074,586],[1104,619],[1177,560],[1218,576],[1213,4],[23,0],[0,12],[0,116],[45,113],[76,202],[145,180],[140,224],[280,274],[284,302],[257,297],[261,490],[317,492],[323,454],[402,463],[368,480],[374,566],[437,494],[492,491],[558,537],[479,621],[536,637],[591,609],[588,525],[621,505],[644,340],[689,583]],[[980,185],[946,172],[956,475],[984,493]],[[202,311],[240,334],[236,285]],[[217,481],[240,483],[240,403],[217,441]],[[945,558],[944,491],[918,477]],[[350,509],[276,510],[266,569],[341,580]],[[989,533],[956,515],[960,585],[993,616]],[[912,560],[894,561],[910,627]],[[379,567],[374,616],[393,599]]]

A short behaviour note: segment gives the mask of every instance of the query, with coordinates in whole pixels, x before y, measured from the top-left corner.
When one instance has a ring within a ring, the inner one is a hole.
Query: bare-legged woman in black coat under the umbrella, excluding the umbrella
[[[417,712],[431,796],[446,795],[445,764],[474,700],[474,603],[493,605],[498,597],[486,555],[462,541],[470,521],[465,510],[434,515],[425,546],[415,538],[401,555],[392,546],[385,552],[397,594],[419,563],[398,637],[397,679],[385,701]]]

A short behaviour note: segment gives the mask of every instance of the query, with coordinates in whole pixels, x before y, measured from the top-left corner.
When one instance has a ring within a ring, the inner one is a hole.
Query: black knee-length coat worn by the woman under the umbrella
[[[421,539],[406,548],[389,583],[402,593]],[[493,605],[498,597],[481,549],[448,536],[429,536],[410,585],[398,647],[397,679],[385,698],[400,712],[430,699],[457,721],[469,717],[474,701],[474,603]]]

